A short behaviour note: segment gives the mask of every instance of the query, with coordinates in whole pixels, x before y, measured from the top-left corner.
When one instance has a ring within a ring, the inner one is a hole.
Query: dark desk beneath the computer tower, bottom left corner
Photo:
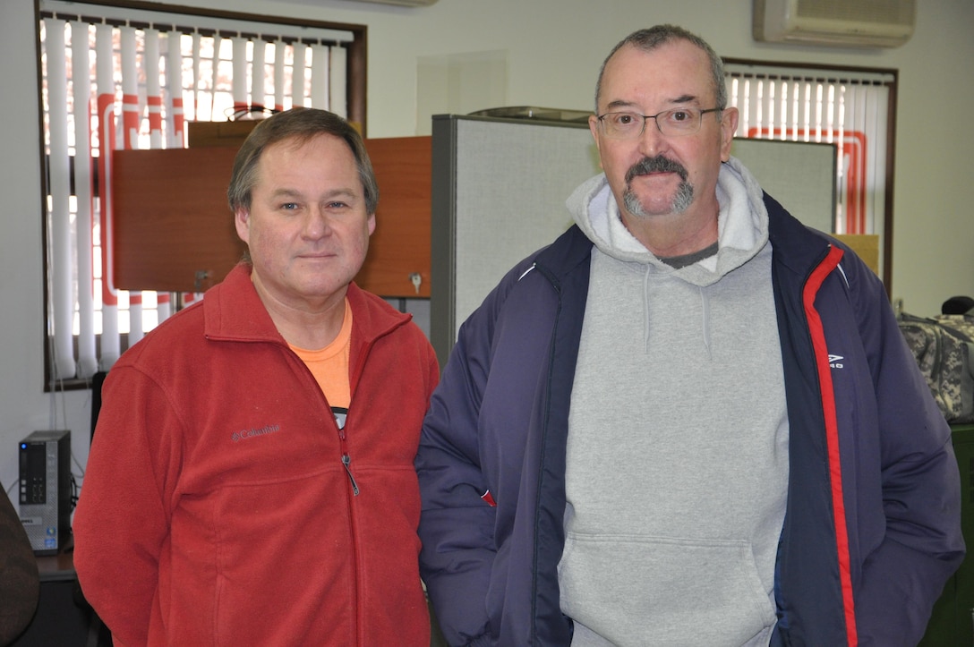
[[[102,647],[111,645],[78,587],[73,544],[50,557],[37,557],[41,594],[30,625],[11,647]],[[91,636],[90,636],[91,634]]]

